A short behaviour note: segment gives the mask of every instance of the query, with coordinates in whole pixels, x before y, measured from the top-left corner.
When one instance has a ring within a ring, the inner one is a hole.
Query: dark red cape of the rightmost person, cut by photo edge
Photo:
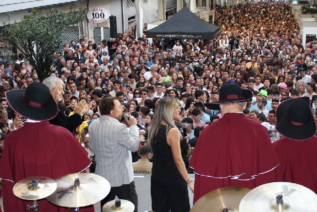
[[[297,183],[317,194],[317,136],[304,141],[283,138],[273,143],[281,161],[279,181]]]

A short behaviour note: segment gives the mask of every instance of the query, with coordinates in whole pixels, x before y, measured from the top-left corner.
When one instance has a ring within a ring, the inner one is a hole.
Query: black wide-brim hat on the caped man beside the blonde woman
[[[219,101],[205,103],[205,107],[211,110],[219,110],[220,104],[228,104],[234,102],[244,102],[252,99],[253,94],[249,89],[241,89],[238,84],[225,84],[220,88]]]

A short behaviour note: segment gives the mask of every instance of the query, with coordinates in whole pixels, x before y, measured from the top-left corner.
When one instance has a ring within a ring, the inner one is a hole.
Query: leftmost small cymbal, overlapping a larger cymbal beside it
[[[13,194],[23,200],[40,200],[51,195],[57,188],[56,182],[44,176],[33,176],[20,180],[13,186]]]

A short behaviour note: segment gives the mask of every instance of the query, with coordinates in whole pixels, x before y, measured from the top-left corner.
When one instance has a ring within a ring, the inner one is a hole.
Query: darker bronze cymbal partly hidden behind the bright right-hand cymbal
[[[244,187],[223,187],[202,196],[190,212],[238,212],[240,201],[251,189]]]

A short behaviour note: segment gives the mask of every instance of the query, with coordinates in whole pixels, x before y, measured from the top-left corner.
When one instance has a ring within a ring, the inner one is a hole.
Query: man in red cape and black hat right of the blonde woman
[[[226,84],[219,101],[206,103],[218,109],[222,118],[200,134],[189,166],[195,173],[194,203],[205,194],[222,187],[241,186],[253,189],[276,182],[278,157],[271,145],[268,130],[243,114],[249,89]]]

